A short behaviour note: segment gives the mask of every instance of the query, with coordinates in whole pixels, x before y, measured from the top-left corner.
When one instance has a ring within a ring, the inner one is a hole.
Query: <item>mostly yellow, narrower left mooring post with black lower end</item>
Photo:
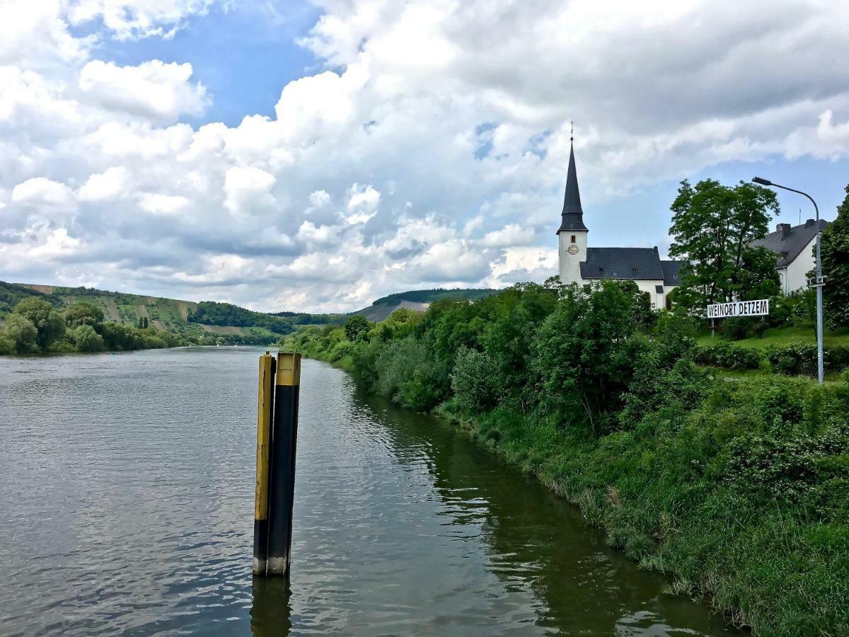
[[[254,498],[254,575],[265,575],[268,550],[269,454],[274,404],[274,357],[260,357],[259,397],[256,402],[256,495]]]

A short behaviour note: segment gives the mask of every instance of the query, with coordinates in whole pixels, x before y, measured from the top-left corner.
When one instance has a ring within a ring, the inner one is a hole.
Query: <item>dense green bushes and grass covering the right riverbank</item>
[[[516,285],[280,346],[436,410],[762,635],[849,634],[849,373],[726,378],[627,281]]]

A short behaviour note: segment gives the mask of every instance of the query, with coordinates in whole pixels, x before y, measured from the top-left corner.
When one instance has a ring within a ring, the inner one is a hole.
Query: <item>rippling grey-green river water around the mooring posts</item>
[[[289,581],[252,581],[250,348],[0,358],[0,634],[728,634],[441,420],[305,361]]]

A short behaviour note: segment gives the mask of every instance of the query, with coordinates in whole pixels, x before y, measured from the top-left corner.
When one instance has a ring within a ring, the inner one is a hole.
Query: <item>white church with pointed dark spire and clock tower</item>
[[[656,245],[653,248],[588,247],[589,229],[583,220],[574,144],[569,152],[560,217],[557,231],[560,281],[584,285],[598,279],[632,280],[640,290],[649,293],[652,307],[668,307],[666,295],[678,285],[683,261],[661,259]]]

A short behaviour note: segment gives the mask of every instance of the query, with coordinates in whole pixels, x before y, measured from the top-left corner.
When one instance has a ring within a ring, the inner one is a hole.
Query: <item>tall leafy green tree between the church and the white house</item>
[[[715,179],[692,186],[685,179],[671,209],[669,254],[688,262],[675,302],[695,308],[779,293],[775,256],[751,246],[779,213],[772,190],[742,181],[732,188]]]

